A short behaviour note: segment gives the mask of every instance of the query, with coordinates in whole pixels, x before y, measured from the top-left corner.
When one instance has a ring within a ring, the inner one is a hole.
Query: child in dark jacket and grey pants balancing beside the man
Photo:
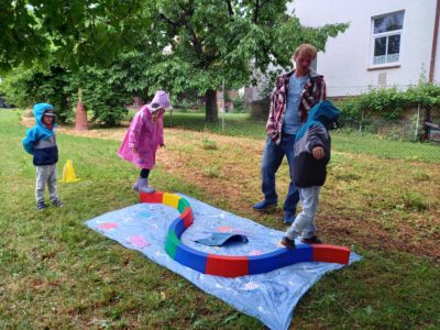
[[[301,212],[286,231],[282,244],[295,249],[295,239],[302,243],[322,243],[316,235],[315,215],[318,209],[319,191],[327,177],[330,161],[330,135],[340,111],[330,102],[316,105],[300,128],[295,140],[295,186],[299,189]]]

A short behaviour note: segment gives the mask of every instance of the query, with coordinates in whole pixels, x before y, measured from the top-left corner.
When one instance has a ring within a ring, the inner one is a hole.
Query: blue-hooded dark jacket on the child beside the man
[[[322,186],[330,161],[331,141],[328,130],[338,120],[340,111],[330,102],[322,101],[309,112],[306,123],[295,138],[294,183],[297,187]],[[324,157],[316,160],[312,150],[321,146]]]

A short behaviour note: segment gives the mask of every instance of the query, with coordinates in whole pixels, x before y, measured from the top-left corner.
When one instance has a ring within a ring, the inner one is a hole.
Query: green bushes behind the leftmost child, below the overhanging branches
[[[19,107],[37,102],[52,103],[61,122],[73,120],[73,107],[82,89],[82,103],[91,111],[91,122],[118,124],[127,114],[125,105],[132,102],[131,92],[123,86],[117,65],[108,69],[85,66],[79,72],[67,72],[54,66],[48,70],[18,68],[0,84],[7,100]]]

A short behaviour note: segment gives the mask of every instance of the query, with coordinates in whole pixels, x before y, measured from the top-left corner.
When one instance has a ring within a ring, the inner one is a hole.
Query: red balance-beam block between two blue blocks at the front
[[[249,275],[246,256],[208,254],[206,274],[224,277]]]

